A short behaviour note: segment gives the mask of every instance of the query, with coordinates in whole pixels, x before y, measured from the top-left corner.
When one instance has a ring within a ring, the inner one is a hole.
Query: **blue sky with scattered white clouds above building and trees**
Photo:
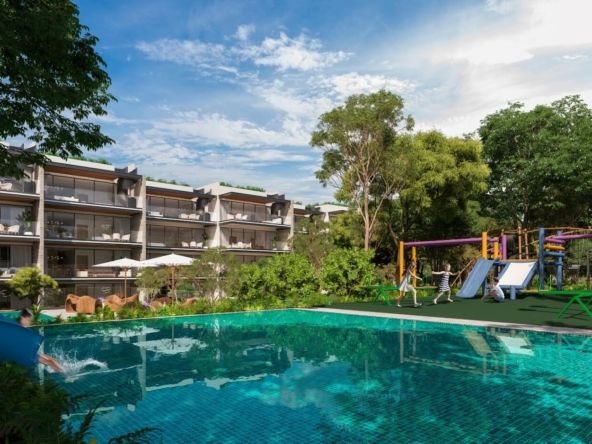
[[[332,200],[308,146],[350,94],[402,95],[416,129],[474,131],[510,101],[592,103],[587,0],[80,0],[117,103],[93,157],[200,186]]]

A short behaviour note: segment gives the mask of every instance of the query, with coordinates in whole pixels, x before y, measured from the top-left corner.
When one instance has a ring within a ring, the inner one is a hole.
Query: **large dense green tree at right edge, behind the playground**
[[[478,130],[491,175],[482,205],[513,228],[591,222],[592,110],[567,96],[488,115]]]

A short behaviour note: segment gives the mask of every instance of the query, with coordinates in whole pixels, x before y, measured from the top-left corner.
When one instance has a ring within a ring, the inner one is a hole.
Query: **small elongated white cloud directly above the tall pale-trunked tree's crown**
[[[411,92],[417,87],[409,80],[399,80],[383,75],[361,75],[357,72],[321,78],[319,84],[331,88],[340,98],[346,98],[352,94],[368,94],[379,89],[401,94]]]

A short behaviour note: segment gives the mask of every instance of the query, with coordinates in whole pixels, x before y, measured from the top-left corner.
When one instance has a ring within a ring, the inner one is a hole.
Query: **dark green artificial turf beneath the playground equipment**
[[[448,319],[470,319],[475,321],[506,322],[512,324],[545,325],[553,327],[592,329],[592,319],[575,303],[557,319],[557,314],[569,302],[571,296],[519,295],[515,300],[506,298],[503,303],[491,299],[481,302],[479,297],[460,299],[452,297],[453,303],[446,302],[446,296],[432,303],[433,297],[418,297],[421,307],[414,308],[410,298],[403,299],[402,307],[396,306],[396,296],[391,298],[392,306],[382,300],[372,305],[370,302],[351,302],[333,304],[330,308],[359,310],[373,313],[399,313],[413,316],[431,316]],[[592,304],[590,305],[592,310]]]

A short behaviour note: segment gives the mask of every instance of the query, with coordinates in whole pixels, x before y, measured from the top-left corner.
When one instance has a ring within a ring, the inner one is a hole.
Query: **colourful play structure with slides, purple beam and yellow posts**
[[[575,234],[564,234],[562,231],[564,229]],[[539,275],[539,292],[553,290],[553,294],[558,294],[562,291],[563,258],[565,257],[566,241],[592,239],[592,232],[590,231],[581,228],[541,227],[533,231],[506,231],[502,232],[499,237],[490,237],[487,232],[483,232],[480,238],[401,242],[399,247],[399,281],[402,279],[404,272],[405,247],[411,247],[411,261],[416,262],[418,247],[481,244],[481,254],[474,262],[469,276],[456,295],[457,297],[475,297],[479,289],[482,289],[481,294],[485,294],[487,291],[487,277],[492,269],[493,276],[500,279],[500,287],[509,290],[510,299],[516,299],[516,292],[527,288],[535,273]],[[538,233],[538,240],[532,240],[534,233]],[[508,257],[510,244],[512,244],[512,247],[516,247],[515,243],[518,244],[517,253],[512,257]],[[535,245],[537,248],[534,248]],[[545,273],[549,272],[549,270],[555,276],[555,288],[551,288],[551,282],[545,280]],[[545,285],[550,288],[545,289]],[[578,294],[582,295],[583,293],[579,292]],[[574,302],[582,305],[577,300]],[[587,306],[587,304],[585,305]],[[582,308],[584,307],[582,306]],[[585,311],[592,317],[592,312],[587,309]]]

